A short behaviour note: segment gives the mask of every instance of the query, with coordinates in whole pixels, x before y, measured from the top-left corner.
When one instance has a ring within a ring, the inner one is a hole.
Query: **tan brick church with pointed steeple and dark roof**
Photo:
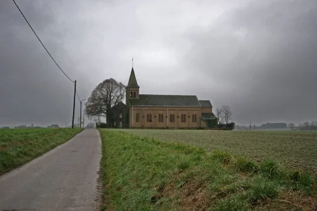
[[[216,125],[209,100],[197,96],[141,94],[132,67],[126,89],[129,128],[198,129]]]

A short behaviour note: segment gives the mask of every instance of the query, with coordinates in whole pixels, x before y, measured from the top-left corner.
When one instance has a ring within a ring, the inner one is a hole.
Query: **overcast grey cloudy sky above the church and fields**
[[[126,84],[133,56],[141,93],[227,104],[238,124],[317,120],[316,0],[16,1],[82,99]],[[73,88],[0,1],[0,126],[71,124]]]

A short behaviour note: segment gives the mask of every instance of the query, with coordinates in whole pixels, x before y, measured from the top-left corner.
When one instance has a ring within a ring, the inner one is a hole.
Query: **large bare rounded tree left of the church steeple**
[[[105,117],[107,126],[112,122],[112,107],[125,97],[125,85],[113,78],[103,80],[88,98],[85,113],[90,118]]]

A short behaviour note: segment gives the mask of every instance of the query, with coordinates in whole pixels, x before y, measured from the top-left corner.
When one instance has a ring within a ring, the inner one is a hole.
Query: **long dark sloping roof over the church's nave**
[[[130,106],[201,107],[197,96],[145,95],[130,99]]]

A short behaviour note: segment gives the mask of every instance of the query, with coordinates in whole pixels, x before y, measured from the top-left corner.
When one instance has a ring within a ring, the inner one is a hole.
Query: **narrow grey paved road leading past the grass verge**
[[[0,177],[0,210],[94,210],[100,159],[99,131],[85,129]]]

